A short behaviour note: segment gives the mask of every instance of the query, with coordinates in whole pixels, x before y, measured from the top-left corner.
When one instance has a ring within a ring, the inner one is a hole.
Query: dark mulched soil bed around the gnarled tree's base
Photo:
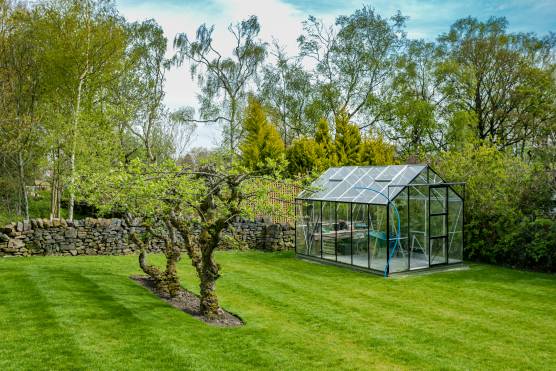
[[[155,295],[159,298],[170,304],[171,306],[178,308],[179,310],[184,311],[185,313],[189,313],[193,317],[208,323],[209,325],[218,326],[218,327],[239,327],[243,326],[244,323],[233,313],[227,312],[223,309],[219,309],[219,318],[217,319],[208,319],[205,318],[199,313],[200,307],[200,300],[197,295],[188,291],[186,289],[181,289],[176,297],[172,298],[167,294],[159,292],[153,284],[153,281],[150,277],[145,276],[131,276],[132,280],[137,282],[138,284],[146,287],[147,289],[151,290]]]

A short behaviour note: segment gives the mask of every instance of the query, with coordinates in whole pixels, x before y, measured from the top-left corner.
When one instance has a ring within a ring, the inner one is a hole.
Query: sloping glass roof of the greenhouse
[[[426,169],[427,165],[332,167],[298,198],[385,205],[387,197],[393,200],[404,189],[395,185],[409,184]]]

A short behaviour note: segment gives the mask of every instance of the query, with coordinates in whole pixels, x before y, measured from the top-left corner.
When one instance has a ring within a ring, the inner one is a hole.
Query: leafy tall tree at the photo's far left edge
[[[39,101],[43,92],[40,43],[35,35],[37,12],[2,3],[0,14],[0,152],[17,169],[19,200],[29,219],[28,172],[35,175],[41,155]]]

